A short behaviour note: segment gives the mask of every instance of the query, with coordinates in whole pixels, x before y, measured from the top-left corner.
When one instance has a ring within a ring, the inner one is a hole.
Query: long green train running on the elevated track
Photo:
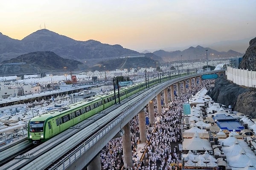
[[[177,77],[177,75],[162,76],[157,79],[148,80],[147,85],[145,82],[140,82],[129,87],[121,88],[119,90],[119,96],[116,92],[116,102],[119,102],[119,99],[121,101],[133,94],[136,94],[148,86],[151,87],[157,83],[164,82],[175,77]],[[53,136],[67,130],[69,127],[78,124],[79,122],[114,104],[115,96],[112,91],[108,94],[84,99],[66,107],[57,108],[40,116],[35,116],[30,119],[28,123],[28,139],[34,144],[45,142]]]

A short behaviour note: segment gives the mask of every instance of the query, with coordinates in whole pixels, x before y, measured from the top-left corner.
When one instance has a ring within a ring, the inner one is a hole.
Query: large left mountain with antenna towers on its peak
[[[1,34],[0,40],[0,62],[35,51],[52,51],[60,57],[81,62],[141,55],[121,45],[103,44],[95,40],[77,41],[47,29],[35,31],[22,40]]]

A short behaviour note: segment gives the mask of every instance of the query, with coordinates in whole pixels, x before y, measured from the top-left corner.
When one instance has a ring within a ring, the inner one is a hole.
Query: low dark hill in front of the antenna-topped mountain
[[[38,51],[32,52],[29,54],[23,54],[16,58],[3,61],[2,65],[15,65],[15,63],[22,63],[22,65],[29,64],[35,68],[39,68],[41,72],[50,72],[50,71],[64,71],[66,67],[67,71],[75,71],[84,69],[84,64],[82,62],[76,61],[74,59],[64,59],[59,57],[57,54],[51,51]],[[38,73],[39,70],[35,71]],[[20,70],[19,73],[23,71]],[[40,71],[39,71],[40,72]],[[7,75],[8,73],[15,73],[13,68],[10,67],[8,70],[3,70],[2,74]],[[32,73],[32,70],[30,71]]]

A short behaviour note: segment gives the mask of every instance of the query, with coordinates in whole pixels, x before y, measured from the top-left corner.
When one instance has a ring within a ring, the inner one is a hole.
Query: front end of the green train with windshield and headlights
[[[28,139],[29,142],[37,144],[39,142],[44,142],[45,119],[44,116],[36,116],[30,119],[28,123]]]

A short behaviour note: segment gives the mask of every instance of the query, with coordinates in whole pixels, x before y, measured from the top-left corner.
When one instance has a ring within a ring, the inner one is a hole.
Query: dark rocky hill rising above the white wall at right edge
[[[256,37],[250,40],[249,47],[239,64],[239,68],[256,71]]]

